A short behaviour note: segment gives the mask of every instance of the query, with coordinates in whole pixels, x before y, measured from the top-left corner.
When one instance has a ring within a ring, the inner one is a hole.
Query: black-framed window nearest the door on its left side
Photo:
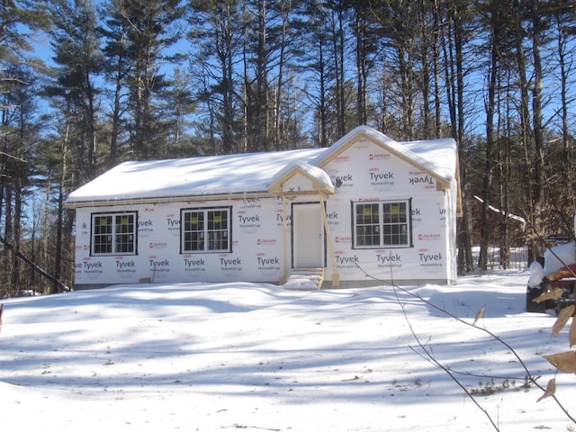
[[[229,207],[182,211],[182,252],[229,252]]]

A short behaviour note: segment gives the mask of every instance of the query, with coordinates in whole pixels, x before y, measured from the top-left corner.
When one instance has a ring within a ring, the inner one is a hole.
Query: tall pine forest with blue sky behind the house
[[[461,274],[493,246],[531,261],[573,238],[574,7],[0,0],[0,296],[73,286],[67,193],[122,161],[327,147],[359,124],[456,139]]]

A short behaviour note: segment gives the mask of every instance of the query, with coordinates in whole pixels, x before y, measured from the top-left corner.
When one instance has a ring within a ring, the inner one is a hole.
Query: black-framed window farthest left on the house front
[[[93,213],[92,255],[136,255],[137,212]]]

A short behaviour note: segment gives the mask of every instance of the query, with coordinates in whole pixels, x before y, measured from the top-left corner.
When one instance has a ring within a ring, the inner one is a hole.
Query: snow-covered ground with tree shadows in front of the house
[[[569,349],[567,329],[553,339],[554,315],[525,312],[527,278],[409,288],[440,310],[396,292],[399,303],[390,286],[139,284],[7,300],[0,422],[60,432],[573,430],[482,331],[544,387],[554,377],[542,355]],[[472,323],[483,306],[481,329],[441,311]],[[558,374],[556,396],[576,415],[574,381]]]

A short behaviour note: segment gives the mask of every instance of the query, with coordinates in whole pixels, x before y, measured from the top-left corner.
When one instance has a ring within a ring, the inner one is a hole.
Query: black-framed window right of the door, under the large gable
[[[355,247],[410,247],[410,200],[354,202]]]

